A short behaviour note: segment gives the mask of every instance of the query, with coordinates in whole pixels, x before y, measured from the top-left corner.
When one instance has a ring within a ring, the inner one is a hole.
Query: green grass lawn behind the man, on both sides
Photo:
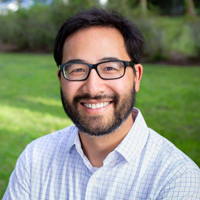
[[[200,166],[200,67],[144,65],[138,107],[149,127]],[[71,124],[52,55],[0,54],[0,198],[25,146]]]

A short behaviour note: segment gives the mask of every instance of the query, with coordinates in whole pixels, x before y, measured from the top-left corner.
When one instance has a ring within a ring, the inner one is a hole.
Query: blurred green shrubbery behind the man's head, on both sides
[[[98,0],[82,2],[55,0],[50,6],[36,5],[29,10],[0,15],[0,48],[6,44],[18,50],[52,52],[57,31],[68,17],[92,7],[102,7],[125,15],[138,26],[146,40],[144,54],[147,60],[166,60],[172,54],[200,55],[198,16],[161,17],[156,7],[144,15],[137,0],[109,0],[104,6],[100,6]]]

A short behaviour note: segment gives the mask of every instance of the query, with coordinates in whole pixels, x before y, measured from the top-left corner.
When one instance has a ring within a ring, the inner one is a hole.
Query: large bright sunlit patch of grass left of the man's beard
[[[12,106],[1,106],[0,119],[0,129],[6,129],[15,134],[26,131],[33,137],[39,137],[56,131],[57,128],[71,125],[71,121],[67,117],[61,118],[48,113]]]

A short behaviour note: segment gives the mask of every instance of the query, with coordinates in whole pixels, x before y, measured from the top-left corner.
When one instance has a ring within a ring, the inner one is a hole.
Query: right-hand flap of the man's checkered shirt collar
[[[136,109],[136,108],[134,108]],[[148,127],[139,109],[134,124],[115,151],[121,154],[127,162],[135,160],[139,156],[147,142]]]

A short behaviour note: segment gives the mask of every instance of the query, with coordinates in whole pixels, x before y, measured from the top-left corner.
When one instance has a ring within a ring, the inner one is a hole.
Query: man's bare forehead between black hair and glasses
[[[70,35],[63,46],[63,62],[69,59],[87,60],[89,57],[120,57],[122,54],[127,55],[124,38],[120,31],[112,27],[79,30]]]

